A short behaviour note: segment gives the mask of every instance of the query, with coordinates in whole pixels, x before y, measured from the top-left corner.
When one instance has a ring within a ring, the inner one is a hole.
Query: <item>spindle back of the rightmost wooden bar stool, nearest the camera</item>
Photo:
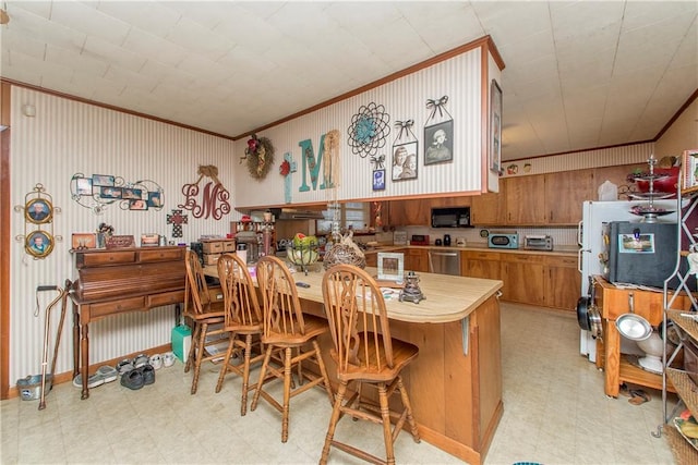
[[[323,277],[323,298],[338,377],[371,380],[392,369],[390,328],[375,280],[353,265],[336,265]]]

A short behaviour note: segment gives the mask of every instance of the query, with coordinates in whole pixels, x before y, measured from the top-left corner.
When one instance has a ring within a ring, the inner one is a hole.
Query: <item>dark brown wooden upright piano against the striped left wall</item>
[[[88,325],[111,315],[184,302],[185,254],[186,247],[167,246],[75,250],[77,280],[70,296],[73,378],[82,375],[81,399],[89,396]]]

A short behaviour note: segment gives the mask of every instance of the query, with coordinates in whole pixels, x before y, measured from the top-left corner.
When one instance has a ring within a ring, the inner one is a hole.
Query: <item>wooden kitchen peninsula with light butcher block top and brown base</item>
[[[320,264],[316,267],[322,270]],[[216,267],[205,272],[216,276]],[[322,277],[321,271],[294,273],[297,282],[310,284],[298,287],[305,313],[324,316]],[[393,336],[420,350],[404,371],[420,436],[470,464],[481,464],[504,412],[497,299],[502,281],[425,272],[419,277],[424,301],[389,298],[386,306]],[[321,346],[336,380],[328,334]]]

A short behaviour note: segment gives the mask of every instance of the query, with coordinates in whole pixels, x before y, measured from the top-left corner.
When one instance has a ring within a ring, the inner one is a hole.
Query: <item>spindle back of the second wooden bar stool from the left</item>
[[[237,255],[218,258],[218,279],[222,289],[227,328],[253,327],[262,323],[256,287],[248,266]]]

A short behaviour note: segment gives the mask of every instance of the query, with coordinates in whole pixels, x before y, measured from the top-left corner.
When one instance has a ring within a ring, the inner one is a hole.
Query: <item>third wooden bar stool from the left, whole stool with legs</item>
[[[303,315],[296,290],[296,282],[289,269],[280,259],[267,255],[257,261],[257,283],[263,297],[264,332],[262,343],[266,346],[260,380],[252,397],[251,411],[257,406],[260,395],[281,412],[281,442],[288,440],[290,400],[309,389],[323,384],[329,403],[334,402],[329,378],[320,352],[317,338],[329,328],[321,317]],[[272,356],[278,354],[284,366],[278,368],[269,364]],[[320,376],[302,369],[303,362],[317,365]],[[292,379],[293,368],[298,369],[298,386]],[[279,403],[264,390],[267,372],[284,380],[284,400]],[[309,382],[303,383],[304,380]]]

